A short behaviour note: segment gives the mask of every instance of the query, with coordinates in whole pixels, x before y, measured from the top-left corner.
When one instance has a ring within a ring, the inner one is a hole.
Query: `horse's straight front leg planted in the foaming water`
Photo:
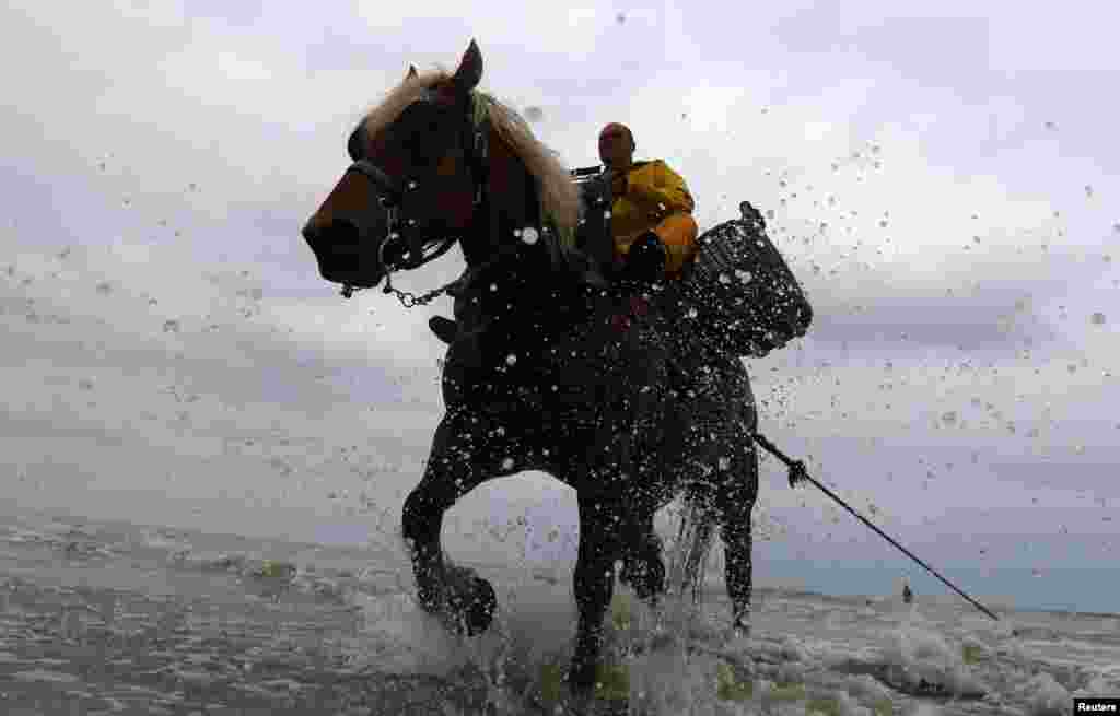
[[[579,623],[568,675],[578,695],[586,696],[595,688],[603,654],[603,621],[614,596],[615,562],[623,552],[624,515],[617,499],[579,496],[579,556],[572,580]]]

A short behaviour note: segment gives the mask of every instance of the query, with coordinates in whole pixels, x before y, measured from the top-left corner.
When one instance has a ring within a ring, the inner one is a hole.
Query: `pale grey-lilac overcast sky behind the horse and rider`
[[[483,86],[538,107],[571,166],[624,122],[638,158],[685,177],[702,227],[741,199],[773,213],[816,319],[748,368],[763,431],[812,474],[931,560],[1052,586],[1114,564],[1120,11],[563,4],[0,10],[9,507],[395,529],[441,411],[426,319],[449,304],[344,301],[298,232],[363,111],[474,37]],[[905,565],[773,461],[764,475],[759,559]],[[529,475],[454,515],[526,511],[568,525],[575,502]]]

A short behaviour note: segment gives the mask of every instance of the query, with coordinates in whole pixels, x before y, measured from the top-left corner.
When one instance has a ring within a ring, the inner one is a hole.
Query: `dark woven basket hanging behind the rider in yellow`
[[[756,222],[704,232],[683,281],[684,310],[701,340],[739,356],[765,356],[805,335],[812,308],[782,254]]]

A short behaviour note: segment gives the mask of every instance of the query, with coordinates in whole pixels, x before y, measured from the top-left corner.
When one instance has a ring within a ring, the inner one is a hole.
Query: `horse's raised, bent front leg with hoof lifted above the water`
[[[417,599],[429,613],[446,613],[467,634],[486,630],[496,597],[491,585],[461,568],[445,564],[440,544],[444,515],[460,497],[501,468],[487,449],[485,423],[445,415],[436,428],[420,484],[404,500],[402,535],[412,558]],[[495,442],[495,441],[491,441]]]

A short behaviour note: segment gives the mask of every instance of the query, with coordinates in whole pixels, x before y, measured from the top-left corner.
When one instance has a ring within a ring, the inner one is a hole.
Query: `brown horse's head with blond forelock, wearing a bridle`
[[[472,40],[454,74],[410,67],[358,123],[347,145],[353,163],[302,230],[325,279],[375,286],[388,271],[441,255],[466,230],[485,172],[470,116],[482,74]]]

